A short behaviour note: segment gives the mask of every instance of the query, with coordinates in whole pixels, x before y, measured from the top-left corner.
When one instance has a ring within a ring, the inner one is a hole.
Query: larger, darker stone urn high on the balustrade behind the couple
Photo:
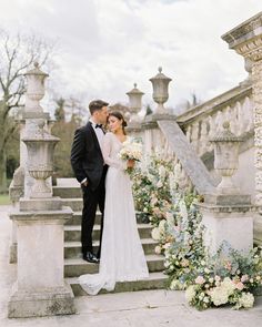
[[[154,111],[157,114],[167,113],[163,103],[165,103],[169,99],[169,83],[171,81],[172,79],[162,73],[161,67],[159,68],[159,73],[154,78],[150,79],[150,82],[153,85],[153,100],[158,103]]]

